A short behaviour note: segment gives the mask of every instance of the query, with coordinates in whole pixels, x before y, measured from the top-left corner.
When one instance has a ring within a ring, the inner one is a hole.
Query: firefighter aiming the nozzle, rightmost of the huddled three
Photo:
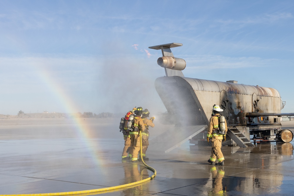
[[[149,131],[148,131],[148,129],[149,129],[149,126],[154,127],[153,120],[155,119],[155,117],[151,117],[150,119],[148,119],[149,114],[150,114],[150,112],[148,111],[148,109],[145,109],[143,111],[143,115],[142,115],[142,119],[143,119],[143,122],[145,125],[145,130],[142,131],[142,133],[141,133],[142,134],[142,157],[143,157],[143,160],[149,160],[149,158],[146,157],[146,150],[149,145],[149,142],[148,142]]]

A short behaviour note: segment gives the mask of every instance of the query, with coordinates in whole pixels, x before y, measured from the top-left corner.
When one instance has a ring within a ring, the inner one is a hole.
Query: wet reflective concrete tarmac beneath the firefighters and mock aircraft
[[[153,175],[142,163],[122,162],[120,119],[1,120],[0,195],[99,189]],[[294,121],[282,125],[294,131]],[[156,127],[151,138],[165,129]],[[255,145],[223,146],[224,166],[207,163],[208,146],[147,150],[156,177],[103,195],[294,195],[293,141]]]

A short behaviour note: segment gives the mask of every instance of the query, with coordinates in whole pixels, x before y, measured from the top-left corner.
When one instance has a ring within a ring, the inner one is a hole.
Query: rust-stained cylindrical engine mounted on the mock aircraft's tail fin
[[[183,70],[186,67],[186,61],[182,58],[173,56],[163,56],[157,59],[157,64],[164,68]]]

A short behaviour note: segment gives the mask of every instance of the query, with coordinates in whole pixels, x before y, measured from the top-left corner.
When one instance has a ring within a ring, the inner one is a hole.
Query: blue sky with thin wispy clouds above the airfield
[[[293,30],[293,1],[1,0],[0,114],[165,112],[148,47],[173,42],[186,77],[275,88],[294,112]]]

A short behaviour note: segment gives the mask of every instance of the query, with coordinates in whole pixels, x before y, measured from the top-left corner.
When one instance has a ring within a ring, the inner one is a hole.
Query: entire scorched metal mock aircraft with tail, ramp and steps
[[[166,73],[155,80],[156,91],[167,109],[161,116],[161,123],[175,125],[168,133],[151,140],[150,150],[169,152],[187,140],[204,143],[214,104],[223,109],[221,114],[228,124],[229,137],[223,145],[254,146],[250,135],[253,139],[292,141],[293,133],[281,129],[280,117],[294,113],[281,113],[285,102],[276,89],[238,84],[237,81],[186,78],[182,73],[186,61],[175,58],[171,52],[171,48],[182,45],[168,43],[149,47],[162,51],[157,64]]]

